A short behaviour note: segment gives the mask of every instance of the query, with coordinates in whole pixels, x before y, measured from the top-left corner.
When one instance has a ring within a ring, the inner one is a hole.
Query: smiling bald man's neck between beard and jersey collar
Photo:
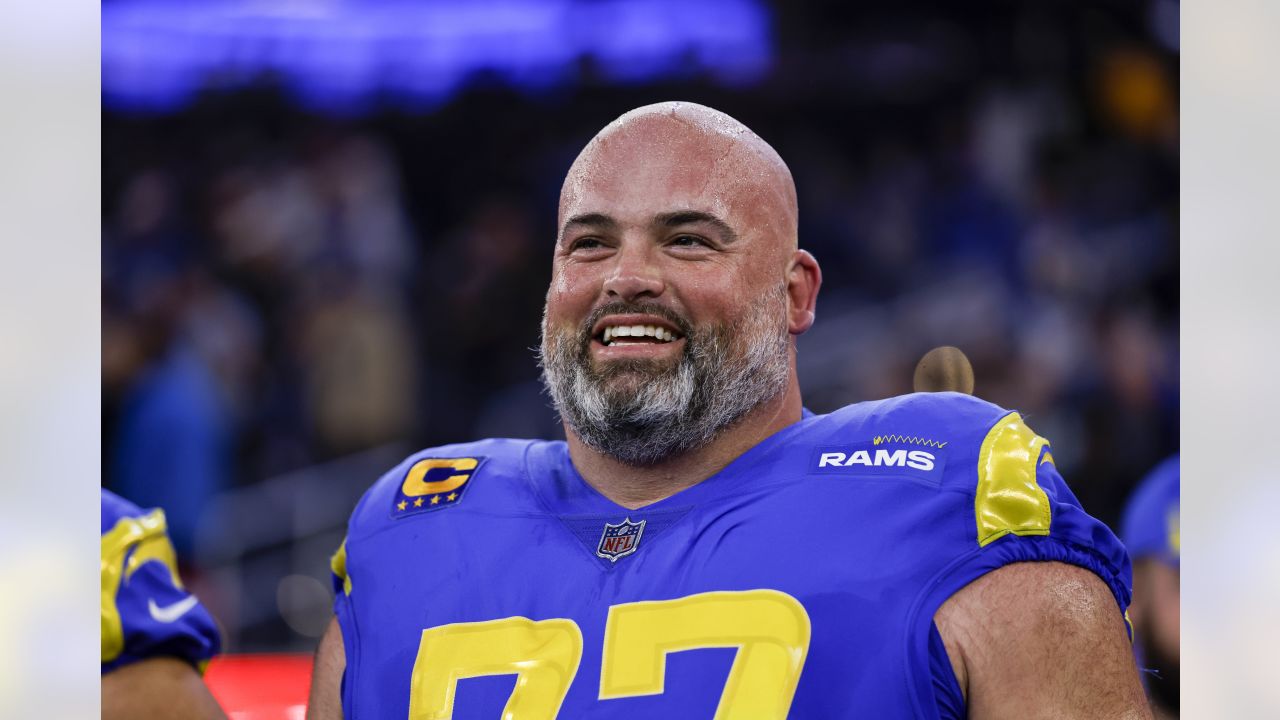
[[[568,452],[588,484],[613,502],[636,510],[692,487],[801,416],[800,384],[795,375],[786,391],[763,402],[721,432],[709,445],[657,465],[637,468],[620,462],[584,443],[568,425]]]

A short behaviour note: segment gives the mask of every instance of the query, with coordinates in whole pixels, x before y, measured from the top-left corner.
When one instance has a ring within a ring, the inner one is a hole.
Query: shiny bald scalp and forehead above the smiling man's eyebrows
[[[713,214],[796,249],[796,190],[791,170],[760,136],[705,105],[658,102],[604,127],[570,168],[561,188],[559,225],[581,213]],[[659,208],[659,205],[666,205]],[[684,208],[677,208],[684,206]]]

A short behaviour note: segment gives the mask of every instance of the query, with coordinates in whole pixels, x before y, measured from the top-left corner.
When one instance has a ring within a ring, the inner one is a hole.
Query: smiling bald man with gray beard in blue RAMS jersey
[[[803,407],[822,273],[768,143],[640,108],[558,224],[540,359],[567,442],[374,484],[310,717],[1149,717],[1129,561],[1016,413]]]

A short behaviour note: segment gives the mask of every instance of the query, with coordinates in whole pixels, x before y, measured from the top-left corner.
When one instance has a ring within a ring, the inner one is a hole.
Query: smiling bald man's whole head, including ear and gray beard
[[[791,172],[742,123],[690,102],[609,123],[564,178],[543,315],[568,437],[648,466],[799,420],[820,284]]]

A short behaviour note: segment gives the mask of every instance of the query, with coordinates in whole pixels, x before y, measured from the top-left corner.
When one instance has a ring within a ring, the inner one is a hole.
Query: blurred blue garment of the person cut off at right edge
[[[1181,475],[1178,455],[1156,465],[1138,483],[1120,521],[1129,556],[1155,557],[1178,568],[1181,557]]]

